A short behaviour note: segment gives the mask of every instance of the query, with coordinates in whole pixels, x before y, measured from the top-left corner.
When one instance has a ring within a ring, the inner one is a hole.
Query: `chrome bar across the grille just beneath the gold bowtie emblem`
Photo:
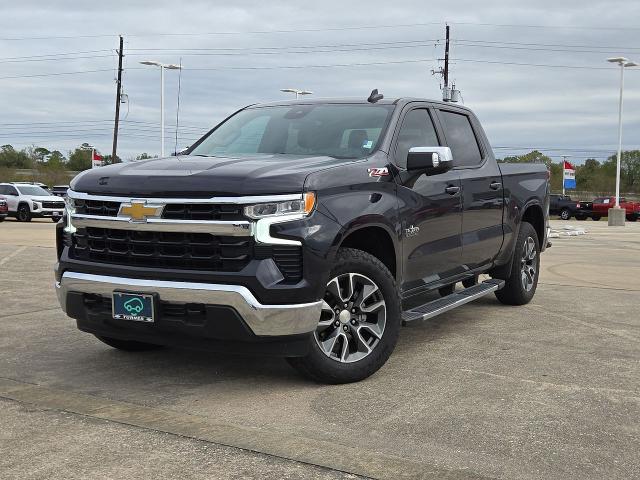
[[[229,237],[250,237],[253,234],[251,223],[243,220],[223,222],[147,218],[145,222],[136,222],[131,221],[129,217],[108,217],[74,213],[71,215],[71,223],[76,228],[96,227],[145,232],[211,233],[213,235]]]

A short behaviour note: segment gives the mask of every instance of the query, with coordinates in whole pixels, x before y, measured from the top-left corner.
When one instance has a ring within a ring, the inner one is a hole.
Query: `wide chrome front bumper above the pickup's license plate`
[[[110,297],[114,290],[156,293],[167,302],[204,303],[234,308],[255,335],[296,335],[312,332],[320,319],[322,301],[292,305],[263,305],[240,285],[172,282],[65,272],[56,293],[66,313],[67,293],[94,293]]]

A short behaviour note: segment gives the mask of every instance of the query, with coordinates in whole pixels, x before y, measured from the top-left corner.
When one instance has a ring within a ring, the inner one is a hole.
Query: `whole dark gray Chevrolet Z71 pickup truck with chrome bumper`
[[[80,330],[118,349],[279,355],[316,381],[358,381],[403,324],[492,292],[531,300],[548,178],[499,165],[450,103],[252,105],[184,155],[78,175],[56,290]],[[429,301],[403,308],[411,297]]]

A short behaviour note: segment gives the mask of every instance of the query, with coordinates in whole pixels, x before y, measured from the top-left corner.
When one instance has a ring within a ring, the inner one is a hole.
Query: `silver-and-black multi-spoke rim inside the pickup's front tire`
[[[387,306],[380,287],[359,273],[344,273],[327,283],[314,336],[330,359],[357,362],[378,346],[386,320]]]

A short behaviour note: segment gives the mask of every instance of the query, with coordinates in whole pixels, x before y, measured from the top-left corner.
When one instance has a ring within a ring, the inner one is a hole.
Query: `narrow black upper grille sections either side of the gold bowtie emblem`
[[[153,203],[153,199],[149,199]],[[104,200],[75,200],[76,212],[84,215],[117,217],[122,202]],[[62,204],[64,207],[64,204]],[[165,205],[162,218],[168,220],[245,220],[242,205],[212,203],[170,203]]]

